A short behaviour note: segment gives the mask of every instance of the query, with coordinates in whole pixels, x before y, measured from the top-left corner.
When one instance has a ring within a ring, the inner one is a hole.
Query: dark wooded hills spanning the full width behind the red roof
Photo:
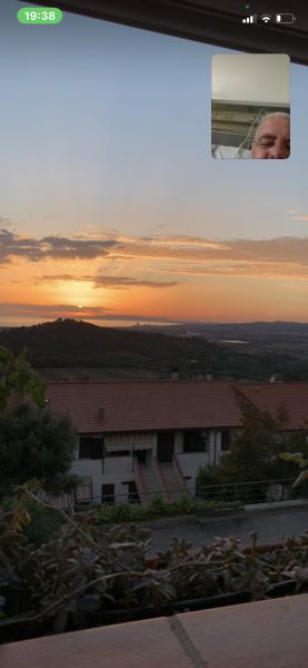
[[[256,344],[225,345],[210,343],[205,335],[181,334],[58,320],[2,330],[0,345],[14,353],[27,347],[30,362],[38,370],[89,370],[90,377],[101,370],[102,377],[163,379],[177,369],[183,379],[212,374],[215,379],[267,381],[276,374],[277,380],[308,380],[308,348],[298,353],[276,350],[271,342],[269,348],[262,350]],[[54,373],[51,375],[54,377]]]

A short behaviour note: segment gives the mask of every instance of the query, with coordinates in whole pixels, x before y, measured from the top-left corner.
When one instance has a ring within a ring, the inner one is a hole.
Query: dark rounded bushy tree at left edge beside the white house
[[[0,412],[0,497],[32,478],[44,489],[63,488],[74,449],[69,418],[30,403],[4,409]]]

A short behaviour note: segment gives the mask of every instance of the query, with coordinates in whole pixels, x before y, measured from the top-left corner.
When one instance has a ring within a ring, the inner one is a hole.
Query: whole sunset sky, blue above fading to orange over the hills
[[[24,3],[27,4],[27,3]],[[1,0],[0,325],[307,321],[308,68],[291,157],[213,160],[228,52]]]

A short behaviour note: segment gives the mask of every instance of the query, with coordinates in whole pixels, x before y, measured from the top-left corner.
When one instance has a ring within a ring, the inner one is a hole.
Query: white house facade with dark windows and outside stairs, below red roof
[[[72,472],[91,485],[93,501],[146,501],[156,492],[171,501],[195,495],[199,466],[218,462],[229,442],[229,430],[79,435]]]

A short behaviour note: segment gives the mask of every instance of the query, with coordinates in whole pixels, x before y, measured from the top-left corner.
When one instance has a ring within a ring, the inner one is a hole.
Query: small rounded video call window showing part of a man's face
[[[289,57],[217,53],[211,61],[211,151],[217,159],[290,156]]]

